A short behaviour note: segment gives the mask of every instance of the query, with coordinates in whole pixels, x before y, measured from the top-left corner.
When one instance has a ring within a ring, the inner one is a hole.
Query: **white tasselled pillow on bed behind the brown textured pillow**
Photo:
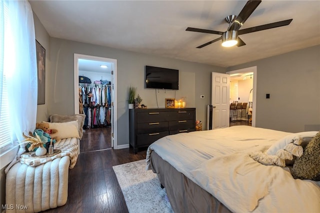
[[[317,131],[302,131],[288,134],[271,145],[268,150],[266,150],[266,154],[275,155],[278,150],[283,149],[288,143],[298,140],[299,138],[302,139],[302,146],[305,146],[316,133]]]

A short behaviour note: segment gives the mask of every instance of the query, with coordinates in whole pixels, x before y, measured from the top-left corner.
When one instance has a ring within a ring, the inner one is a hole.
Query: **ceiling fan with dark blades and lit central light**
[[[246,34],[250,32],[256,32],[256,31],[265,30],[265,29],[271,29],[279,26],[285,26],[292,21],[292,18],[291,18],[287,20],[281,20],[273,23],[267,23],[267,24],[253,26],[253,27],[239,30],[239,28],[243,25],[246,19],[251,15],[251,13],[260,3],[261,3],[261,0],[248,0],[244,5],[244,7],[242,8],[242,10],[240,11],[240,13],[238,14],[238,16],[236,15],[226,16],[225,21],[229,23],[229,27],[225,32],[215,31],[210,29],[199,29],[199,28],[193,28],[193,27],[187,27],[185,30],[221,35],[220,37],[213,39],[209,42],[206,42],[202,45],[199,45],[196,48],[202,48],[218,40],[222,40],[222,46],[225,46],[225,47],[234,46],[234,45],[243,46],[245,45],[245,43],[243,42],[243,40],[241,40],[241,38],[238,37],[238,35]]]

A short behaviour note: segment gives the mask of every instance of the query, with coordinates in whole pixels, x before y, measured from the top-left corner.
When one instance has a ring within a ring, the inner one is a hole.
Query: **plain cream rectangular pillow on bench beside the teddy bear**
[[[44,122],[44,121],[42,121]],[[56,129],[57,132],[50,134],[52,138],[63,139],[69,137],[79,138],[78,131],[78,121],[68,121],[68,122],[45,122],[49,125],[49,129]]]

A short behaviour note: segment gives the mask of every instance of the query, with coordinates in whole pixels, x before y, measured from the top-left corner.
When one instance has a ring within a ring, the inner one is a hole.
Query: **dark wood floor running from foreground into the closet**
[[[76,165],[69,170],[66,204],[43,212],[128,212],[112,166],[145,159],[146,149],[136,154],[132,148],[105,150],[111,144],[111,137],[105,136],[108,132],[106,128],[86,129]]]

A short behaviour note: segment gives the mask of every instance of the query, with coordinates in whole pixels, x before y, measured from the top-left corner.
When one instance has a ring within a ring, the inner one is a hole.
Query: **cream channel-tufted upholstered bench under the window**
[[[62,118],[65,119],[60,119]],[[56,122],[74,120],[75,115],[55,115]],[[39,212],[64,205],[68,192],[68,172],[76,163],[79,141],[85,115],[78,121],[79,136],[59,139],[54,143],[54,155],[34,156],[33,152],[23,153],[19,162],[9,168],[5,182],[5,203],[13,206],[6,212]],[[52,121],[52,115],[50,121]],[[51,122],[50,124],[56,125]],[[61,125],[63,125],[61,123]]]

